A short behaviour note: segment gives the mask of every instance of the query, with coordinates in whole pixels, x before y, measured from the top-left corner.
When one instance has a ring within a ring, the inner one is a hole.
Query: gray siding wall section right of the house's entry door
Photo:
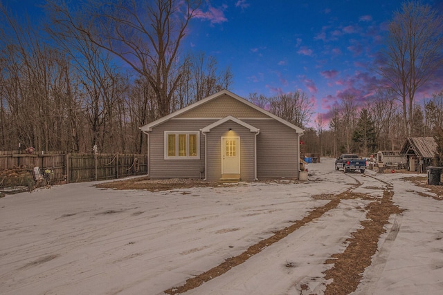
[[[298,178],[298,134],[275,120],[244,120],[257,135],[257,178]]]

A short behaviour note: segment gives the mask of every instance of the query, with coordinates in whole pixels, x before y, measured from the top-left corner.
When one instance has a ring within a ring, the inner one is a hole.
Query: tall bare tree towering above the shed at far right
[[[389,24],[383,64],[378,68],[401,99],[403,121],[410,135],[417,90],[443,66],[443,17],[431,6],[416,1],[402,4]]]

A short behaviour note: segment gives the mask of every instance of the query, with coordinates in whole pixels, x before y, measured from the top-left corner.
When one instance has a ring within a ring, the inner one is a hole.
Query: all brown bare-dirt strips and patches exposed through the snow
[[[407,179],[409,180],[409,179]],[[273,182],[279,183],[293,183],[293,181],[273,180]],[[423,182],[421,178],[411,178],[409,181],[417,183]],[[427,185],[417,183],[419,185]],[[238,184],[236,184],[238,185]],[[360,183],[354,187],[358,187]],[[149,180],[147,178],[136,178],[134,180],[115,181],[99,184],[97,187],[113,188],[113,189],[144,189],[148,191],[164,191],[170,189],[187,189],[192,187],[222,187],[226,184],[220,182],[206,182],[204,180]],[[354,187],[352,189],[354,189]],[[436,187],[436,186],[429,186]],[[351,238],[346,240],[347,247],[341,254],[334,254],[325,261],[327,264],[334,264],[330,269],[325,271],[325,279],[332,278],[332,283],[326,286],[325,294],[349,294],[354,292],[359,285],[362,278],[362,274],[366,267],[371,264],[372,256],[377,252],[378,240],[386,231],[386,225],[388,224],[388,218],[392,214],[400,214],[401,209],[392,204],[392,190],[388,188],[383,191],[383,198],[375,198],[370,195],[361,193],[353,193],[352,189],[345,191],[336,196],[334,195],[318,195],[312,196],[316,200],[330,200],[322,207],[318,207],[311,211],[308,216],[302,218],[302,220],[293,221],[293,224],[279,231],[275,231],[273,236],[266,238],[255,245],[251,245],[238,256],[228,258],[221,263],[209,269],[207,272],[198,276],[189,278],[181,286],[172,287],[165,290],[166,294],[181,294],[190,289],[199,287],[208,280],[212,280],[217,276],[221,276],[229,271],[229,269],[244,263],[248,258],[251,258],[255,254],[260,253],[266,247],[269,247],[275,242],[278,242],[282,238],[288,236],[293,231],[296,231],[308,222],[323,216],[323,214],[338,206],[341,200],[360,198],[363,200],[370,200],[371,202],[364,208],[367,211],[367,220],[361,222],[362,229],[357,230],[352,234]],[[430,188],[432,191],[437,188]],[[443,189],[443,187],[442,187]],[[442,196],[442,193],[437,194]],[[394,229],[392,229],[394,230]],[[309,293],[309,287],[305,286]]]

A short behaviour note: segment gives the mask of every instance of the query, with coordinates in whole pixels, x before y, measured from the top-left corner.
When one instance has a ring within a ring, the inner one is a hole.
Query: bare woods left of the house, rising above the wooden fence
[[[214,57],[179,59],[198,3],[114,2],[48,1],[45,26],[0,4],[0,150],[145,153],[140,126],[230,88]]]

